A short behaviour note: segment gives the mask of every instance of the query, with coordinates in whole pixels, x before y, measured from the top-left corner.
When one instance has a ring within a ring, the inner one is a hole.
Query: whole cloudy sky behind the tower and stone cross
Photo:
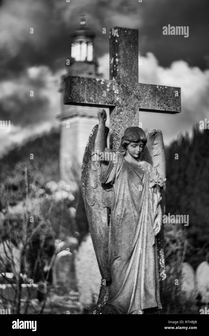
[[[208,12],[208,0],[1,1],[0,120],[11,120],[12,125],[10,132],[0,131],[1,149],[57,123],[59,78],[70,56],[70,34],[79,26],[81,14],[86,14],[87,26],[97,34],[95,54],[105,78],[109,29],[139,30],[144,62],[140,81],[183,90],[184,115],[175,117],[175,131],[167,130],[166,141],[178,131],[190,130],[194,122],[208,116]],[[189,37],[163,35],[168,24],[189,26]],[[107,34],[102,34],[102,28]],[[33,100],[30,90],[35,92]]]

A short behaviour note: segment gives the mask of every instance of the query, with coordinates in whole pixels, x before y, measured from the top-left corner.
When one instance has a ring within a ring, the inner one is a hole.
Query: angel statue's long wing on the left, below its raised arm
[[[94,250],[96,253],[99,270],[102,279],[110,280],[108,266],[108,222],[109,208],[112,204],[112,187],[102,185],[99,181],[100,161],[95,161],[94,143],[97,135],[98,125],[96,125],[89,137],[86,145],[82,164],[82,195],[85,202],[90,234]],[[105,127],[105,141],[109,128]],[[107,147],[107,144],[105,144]]]

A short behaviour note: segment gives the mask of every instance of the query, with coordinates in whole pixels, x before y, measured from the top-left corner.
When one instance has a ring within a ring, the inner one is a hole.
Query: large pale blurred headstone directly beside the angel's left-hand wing
[[[83,241],[75,257],[75,271],[80,292],[80,302],[84,307],[96,303],[99,295],[101,275],[90,234]]]

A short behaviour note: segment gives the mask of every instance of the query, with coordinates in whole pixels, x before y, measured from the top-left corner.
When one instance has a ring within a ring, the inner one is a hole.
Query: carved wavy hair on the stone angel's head
[[[126,128],[124,135],[121,138],[121,143],[119,147],[119,152],[121,155],[125,155],[126,148],[130,142],[138,142],[142,141],[143,145],[145,146],[147,143],[147,137],[145,132],[142,128],[139,127],[128,127]]]

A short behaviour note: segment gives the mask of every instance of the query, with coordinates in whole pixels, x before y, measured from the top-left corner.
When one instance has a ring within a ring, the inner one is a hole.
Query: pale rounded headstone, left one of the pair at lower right
[[[190,296],[195,292],[195,271],[188,262],[182,263],[181,290]]]

